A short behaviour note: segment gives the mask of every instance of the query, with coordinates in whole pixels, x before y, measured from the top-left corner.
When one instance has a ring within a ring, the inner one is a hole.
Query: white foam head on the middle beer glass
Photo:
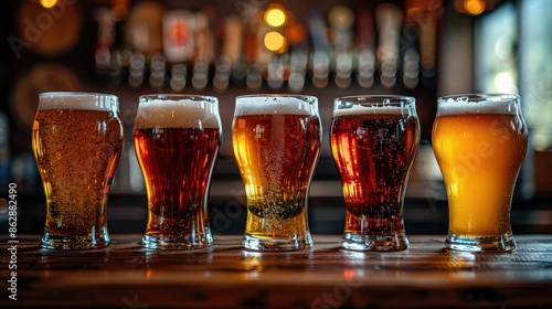
[[[315,115],[318,113],[315,105],[293,96],[237,97],[235,116],[267,114]]]

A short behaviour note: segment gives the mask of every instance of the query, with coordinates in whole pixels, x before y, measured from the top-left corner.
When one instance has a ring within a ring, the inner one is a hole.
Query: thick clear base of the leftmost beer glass
[[[81,235],[57,235],[44,232],[42,236],[42,247],[46,249],[93,249],[109,245],[109,234],[107,231],[100,236]]]

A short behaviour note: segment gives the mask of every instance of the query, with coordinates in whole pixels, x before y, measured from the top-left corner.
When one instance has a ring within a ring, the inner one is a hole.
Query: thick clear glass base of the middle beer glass
[[[300,251],[311,248],[312,244],[308,232],[302,238],[272,238],[245,234],[242,241],[242,245],[252,251]]]

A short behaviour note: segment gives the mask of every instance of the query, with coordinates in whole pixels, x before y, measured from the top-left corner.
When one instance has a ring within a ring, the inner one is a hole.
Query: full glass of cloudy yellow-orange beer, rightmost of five
[[[448,195],[447,248],[516,248],[510,206],[527,131],[517,95],[438,98],[432,142]]]

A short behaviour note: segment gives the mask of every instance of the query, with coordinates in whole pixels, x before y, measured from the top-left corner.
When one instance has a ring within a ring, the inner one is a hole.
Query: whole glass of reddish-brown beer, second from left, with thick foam
[[[139,97],[134,145],[148,199],[145,247],[193,249],[213,243],[208,194],[221,128],[215,97]]]

